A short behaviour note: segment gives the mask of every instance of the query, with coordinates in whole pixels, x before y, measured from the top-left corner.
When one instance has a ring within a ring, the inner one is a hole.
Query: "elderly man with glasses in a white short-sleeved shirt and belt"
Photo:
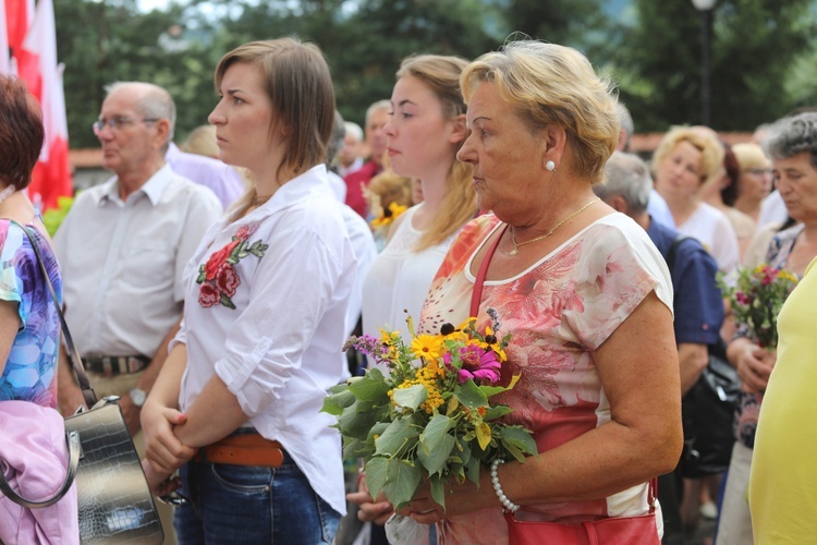
[[[100,398],[121,398],[139,449],[139,410],[182,316],[183,269],[222,206],[166,162],[175,120],[168,92],[137,82],[107,90],[94,133],[114,175],[76,197],[53,241],[65,317],[92,386]],[[70,413],[83,398],[64,353],[59,373]],[[171,519],[162,523],[172,534]]]

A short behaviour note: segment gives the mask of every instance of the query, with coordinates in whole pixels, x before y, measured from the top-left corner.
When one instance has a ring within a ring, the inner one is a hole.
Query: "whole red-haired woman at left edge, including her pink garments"
[[[24,229],[60,301],[62,279],[42,219],[23,191],[42,148],[42,118],[23,82],[4,74],[0,120],[0,465],[12,489],[41,498],[57,492],[68,467],[64,440],[51,440],[64,434],[54,410],[60,323]],[[45,509],[0,494],[0,543],[78,543],[76,512],[76,487]]]

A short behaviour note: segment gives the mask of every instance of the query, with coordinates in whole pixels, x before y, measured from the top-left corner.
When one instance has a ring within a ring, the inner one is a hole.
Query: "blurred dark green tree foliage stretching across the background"
[[[179,142],[207,122],[212,71],[240,44],[298,36],[324,50],[338,108],[363,122],[391,95],[412,53],[466,59],[497,49],[514,31],[569,45],[612,72],[638,131],[697,123],[700,14],[688,0],[630,0],[633,24],[608,15],[626,0],[175,0],[142,13],[135,0],[54,2],[58,58],[71,146],[98,142],[90,124],[105,85],[148,81],[176,101]],[[714,12],[711,111],[718,130],[752,130],[817,101],[815,0],[720,0]],[[605,11],[607,10],[607,11]],[[810,40],[810,41],[809,41]]]

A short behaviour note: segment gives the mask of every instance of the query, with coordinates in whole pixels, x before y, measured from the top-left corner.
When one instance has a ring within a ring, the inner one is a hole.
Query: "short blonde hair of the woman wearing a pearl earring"
[[[556,44],[512,41],[472,62],[460,82],[466,102],[480,83],[493,83],[532,132],[562,126],[576,174],[601,180],[619,142],[617,99],[610,78],[597,75],[584,55]]]

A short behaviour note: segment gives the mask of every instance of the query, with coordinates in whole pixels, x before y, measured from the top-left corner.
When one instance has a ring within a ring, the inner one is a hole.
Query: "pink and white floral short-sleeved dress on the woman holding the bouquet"
[[[422,331],[439,332],[442,324],[467,317],[473,256],[501,226],[489,215],[465,227],[431,284]],[[485,282],[477,326],[488,325],[486,308],[497,310],[499,336],[512,334],[502,382],[521,374],[513,390],[493,399],[514,410],[508,422],[534,432],[539,451],[610,421],[592,352],[651,291],[672,308],[672,283],[661,255],[644,229],[621,214],[592,223],[519,276]],[[646,483],[593,501],[523,507],[526,519],[563,522],[647,509]],[[658,521],[660,526],[660,516]],[[499,500],[496,508],[443,521],[438,535],[440,543],[507,543]]]

